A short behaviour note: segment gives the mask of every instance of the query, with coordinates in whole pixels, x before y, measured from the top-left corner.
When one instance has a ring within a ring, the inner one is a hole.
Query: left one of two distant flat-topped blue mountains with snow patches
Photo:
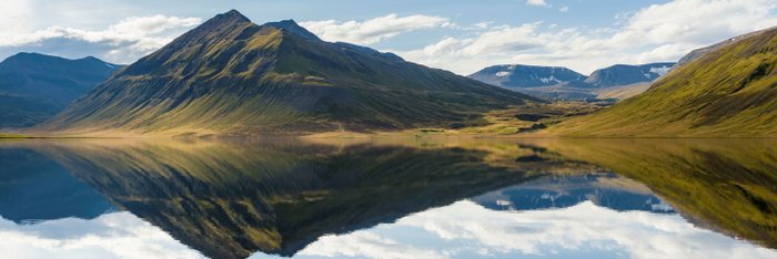
[[[567,68],[522,64],[488,66],[470,77],[503,87],[541,87],[585,80],[585,75]]]

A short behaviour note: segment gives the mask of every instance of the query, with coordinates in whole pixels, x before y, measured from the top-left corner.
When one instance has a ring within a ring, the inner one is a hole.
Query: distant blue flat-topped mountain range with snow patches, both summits
[[[584,100],[597,99],[612,89],[649,84],[666,74],[674,64],[672,62],[642,65],[616,64],[596,70],[589,76],[566,68],[511,64],[488,66],[470,77],[541,97]]]

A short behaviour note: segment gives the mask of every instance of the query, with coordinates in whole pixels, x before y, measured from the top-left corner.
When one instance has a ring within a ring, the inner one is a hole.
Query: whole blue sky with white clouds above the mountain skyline
[[[777,0],[2,0],[0,59],[38,52],[129,64],[231,9],[462,75],[495,64],[587,74],[677,61],[777,25]]]

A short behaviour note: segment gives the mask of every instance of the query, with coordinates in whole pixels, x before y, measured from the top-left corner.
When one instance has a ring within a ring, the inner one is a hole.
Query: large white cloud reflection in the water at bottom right
[[[423,241],[407,237],[423,237]],[[332,249],[336,247],[344,249]],[[777,255],[775,250],[697,228],[678,215],[619,213],[592,201],[563,209],[495,211],[468,200],[417,213],[395,224],[326,236],[300,255],[371,257],[370,251],[387,251],[401,258],[403,252],[445,258],[563,258],[589,253],[618,258],[754,259]],[[417,255],[410,257],[424,257]]]

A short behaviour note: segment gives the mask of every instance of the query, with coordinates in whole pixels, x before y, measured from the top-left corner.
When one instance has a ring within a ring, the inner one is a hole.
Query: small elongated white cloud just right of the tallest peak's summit
[[[306,21],[300,23],[305,29],[326,41],[344,41],[356,44],[372,44],[396,37],[404,32],[421,29],[450,27],[446,18],[430,15],[398,17],[395,13],[367,21]]]

